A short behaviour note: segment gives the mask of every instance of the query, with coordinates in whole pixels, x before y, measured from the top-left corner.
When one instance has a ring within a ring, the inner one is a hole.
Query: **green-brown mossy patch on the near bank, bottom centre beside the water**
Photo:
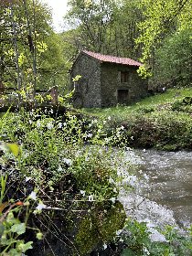
[[[116,235],[116,231],[123,229],[126,214],[120,202],[108,206],[97,204],[86,214],[78,225],[75,236],[80,255],[88,255],[91,251],[102,247],[103,242],[110,243]]]

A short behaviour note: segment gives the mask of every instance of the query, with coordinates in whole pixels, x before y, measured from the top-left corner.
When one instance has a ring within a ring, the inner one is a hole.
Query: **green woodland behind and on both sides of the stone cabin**
[[[191,80],[191,1],[69,1],[63,32],[51,27],[40,1],[1,2],[0,78],[18,91],[68,86],[80,49],[144,63],[151,84],[187,86]],[[35,95],[35,94],[34,94]]]

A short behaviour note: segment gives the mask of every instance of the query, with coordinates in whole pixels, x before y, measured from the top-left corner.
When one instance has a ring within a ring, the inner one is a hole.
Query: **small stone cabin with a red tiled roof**
[[[141,65],[133,59],[81,51],[69,70],[71,87],[75,88],[74,107],[128,105],[144,98],[147,80],[136,71]],[[80,80],[73,81],[77,75]]]

